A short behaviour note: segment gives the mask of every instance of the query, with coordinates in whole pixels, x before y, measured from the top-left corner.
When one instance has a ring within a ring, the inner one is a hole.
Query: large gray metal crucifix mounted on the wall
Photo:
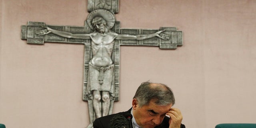
[[[83,100],[88,101],[90,124],[95,118],[112,114],[119,100],[120,46],[182,46],[182,32],[174,27],[159,30],[121,29],[116,21],[118,0],[88,0],[90,14],[84,26],[52,26],[28,22],[21,28],[21,38],[28,44],[59,42],[84,44]],[[78,85],[79,86],[79,85]]]

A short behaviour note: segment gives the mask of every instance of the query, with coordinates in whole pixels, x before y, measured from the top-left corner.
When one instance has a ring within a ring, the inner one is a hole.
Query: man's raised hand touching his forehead
[[[171,108],[166,115],[170,116],[169,120],[169,128],[180,128],[180,124],[182,121],[182,114],[178,108]]]

